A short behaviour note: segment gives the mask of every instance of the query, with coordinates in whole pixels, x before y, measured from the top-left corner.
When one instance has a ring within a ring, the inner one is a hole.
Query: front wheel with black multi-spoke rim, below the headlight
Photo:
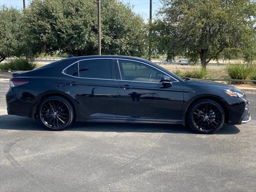
[[[194,103],[188,110],[187,122],[196,132],[212,134],[222,128],[225,114],[222,106],[209,99]]]

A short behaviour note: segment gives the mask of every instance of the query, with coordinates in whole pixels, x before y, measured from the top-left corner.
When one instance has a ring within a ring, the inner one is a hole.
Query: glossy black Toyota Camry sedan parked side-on
[[[74,121],[183,124],[203,134],[250,121],[244,92],[180,78],[148,60],[83,56],[16,72],[8,114],[38,119],[50,130]]]

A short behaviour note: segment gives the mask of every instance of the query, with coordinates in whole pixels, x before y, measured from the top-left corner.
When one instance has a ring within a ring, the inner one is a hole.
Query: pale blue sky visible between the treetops
[[[29,4],[30,0],[25,0],[26,6]],[[141,14],[144,18],[145,22],[148,22],[149,19],[149,0],[122,0],[122,2],[130,3],[133,5],[133,11]],[[5,4],[6,6],[13,6],[16,8],[23,8],[23,0],[0,0],[0,5]],[[152,0],[152,17],[154,20],[154,16],[156,11],[161,7],[160,0]]]

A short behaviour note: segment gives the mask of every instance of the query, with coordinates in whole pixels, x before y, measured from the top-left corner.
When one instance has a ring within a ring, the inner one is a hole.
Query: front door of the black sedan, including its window
[[[168,74],[144,62],[115,59],[115,65],[118,69],[117,117],[180,119],[182,82],[171,77],[172,86],[164,87],[160,80]]]

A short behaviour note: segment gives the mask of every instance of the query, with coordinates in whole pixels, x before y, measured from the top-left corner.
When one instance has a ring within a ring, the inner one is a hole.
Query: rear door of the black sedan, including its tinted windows
[[[116,117],[118,90],[113,58],[79,60],[63,71],[60,82],[75,98],[80,115]]]

